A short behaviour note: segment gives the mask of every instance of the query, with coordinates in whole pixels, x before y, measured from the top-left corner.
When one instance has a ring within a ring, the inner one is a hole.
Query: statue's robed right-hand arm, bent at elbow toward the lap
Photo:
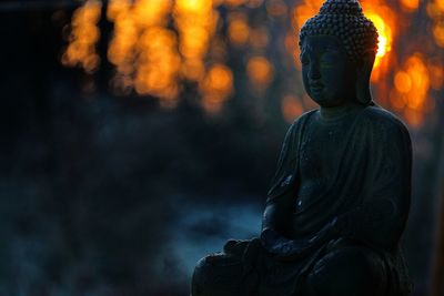
[[[411,200],[412,147],[407,130],[401,123],[374,133],[376,153],[370,198],[337,217],[340,236],[367,245],[393,248],[405,227]]]

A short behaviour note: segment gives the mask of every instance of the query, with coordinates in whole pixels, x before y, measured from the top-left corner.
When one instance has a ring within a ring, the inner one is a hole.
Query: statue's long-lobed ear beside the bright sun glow
[[[372,102],[372,93],[370,92],[370,76],[375,60],[375,52],[367,51],[364,53],[361,63],[357,67],[356,75],[356,99],[362,104]]]

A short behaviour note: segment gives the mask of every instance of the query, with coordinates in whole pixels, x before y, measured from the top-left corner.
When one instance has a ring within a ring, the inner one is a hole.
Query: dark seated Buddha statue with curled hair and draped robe
[[[319,104],[289,129],[260,237],[202,258],[192,296],[404,296],[400,238],[411,201],[408,131],[377,106],[377,32],[356,0],[326,0],[300,32]]]

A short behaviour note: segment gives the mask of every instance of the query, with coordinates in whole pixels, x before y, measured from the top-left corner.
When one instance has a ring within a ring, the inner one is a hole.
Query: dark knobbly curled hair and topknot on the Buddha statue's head
[[[302,25],[301,50],[304,38],[309,35],[339,38],[352,61],[360,61],[366,51],[377,51],[377,30],[365,18],[357,0],[326,0],[319,13]]]

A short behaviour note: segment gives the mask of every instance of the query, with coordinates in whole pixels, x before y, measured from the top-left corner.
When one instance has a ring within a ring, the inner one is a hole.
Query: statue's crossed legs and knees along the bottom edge
[[[194,269],[192,296],[271,295],[270,289],[261,283],[264,268],[260,262],[266,258],[278,265],[282,263],[262,248],[259,239],[251,242],[229,241],[223,253],[202,258]],[[291,265],[287,262],[283,264]],[[390,287],[389,282],[383,256],[366,246],[340,238],[327,244],[310,263],[310,268],[297,278],[296,292],[285,295],[400,295]],[[293,286],[289,289],[293,290],[296,283],[289,284]]]

